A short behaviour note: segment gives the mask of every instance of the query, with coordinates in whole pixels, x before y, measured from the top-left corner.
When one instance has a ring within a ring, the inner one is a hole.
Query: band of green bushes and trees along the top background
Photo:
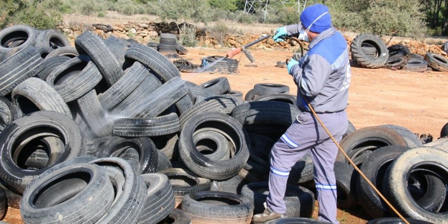
[[[240,23],[297,23],[296,9],[271,5],[265,12],[243,12],[244,0],[2,0],[0,29],[14,23],[53,28],[62,14],[104,17],[107,11],[125,15],[151,14],[178,24],[192,20]],[[291,2],[294,2],[291,0]],[[448,0],[320,0],[331,11],[334,26],[357,33],[422,37],[448,34]],[[216,24],[212,25],[217,26]],[[181,30],[182,27],[179,27]],[[225,30],[223,27],[215,27]]]

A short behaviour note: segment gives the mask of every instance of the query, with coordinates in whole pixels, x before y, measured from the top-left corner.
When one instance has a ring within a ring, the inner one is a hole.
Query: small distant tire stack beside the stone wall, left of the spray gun
[[[158,50],[163,55],[177,55],[188,54],[188,50],[177,43],[177,37],[175,34],[160,34],[160,43],[149,42],[147,46]]]

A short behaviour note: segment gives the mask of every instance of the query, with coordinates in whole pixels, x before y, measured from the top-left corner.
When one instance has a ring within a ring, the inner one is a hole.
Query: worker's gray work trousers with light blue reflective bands
[[[347,131],[345,111],[318,114],[333,137],[339,142]],[[272,147],[267,206],[276,213],[285,213],[286,184],[291,167],[310,152],[314,163],[314,181],[319,202],[319,220],[339,223],[336,219],[337,192],[334,161],[338,147],[309,112],[301,113],[285,134]]]

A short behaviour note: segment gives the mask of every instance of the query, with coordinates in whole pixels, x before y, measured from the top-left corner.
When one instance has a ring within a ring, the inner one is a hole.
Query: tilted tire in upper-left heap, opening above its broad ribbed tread
[[[89,57],[81,55],[55,68],[46,81],[61,95],[64,102],[71,102],[93,90],[102,78]]]

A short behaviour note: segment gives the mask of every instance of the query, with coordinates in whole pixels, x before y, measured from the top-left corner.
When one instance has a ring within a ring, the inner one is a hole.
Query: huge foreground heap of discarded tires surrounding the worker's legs
[[[1,215],[8,204],[25,223],[225,224],[263,210],[269,151],[300,113],[286,86],[257,84],[245,101],[225,77],[195,85],[153,48],[92,32],[45,59],[31,44],[4,55]],[[403,214],[448,221],[446,151],[393,125],[351,125],[341,145]],[[338,161],[340,207],[391,215]],[[309,219],[310,155],[288,181],[290,219],[271,223],[322,223]]]

